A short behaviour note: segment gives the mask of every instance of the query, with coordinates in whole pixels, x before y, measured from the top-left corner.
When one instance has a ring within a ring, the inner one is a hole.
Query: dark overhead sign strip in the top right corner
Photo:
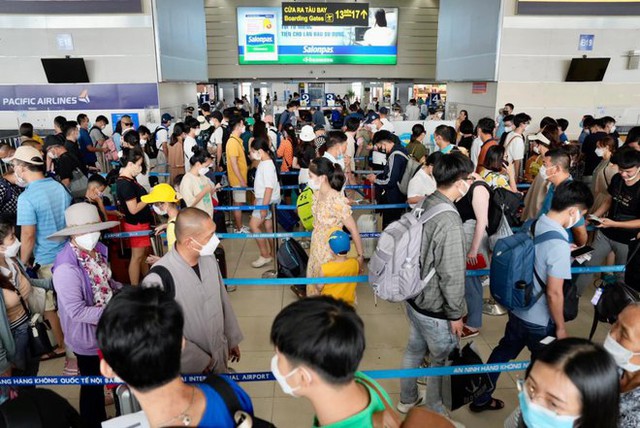
[[[518,0],[519,15],[639,15],[638,0]]]

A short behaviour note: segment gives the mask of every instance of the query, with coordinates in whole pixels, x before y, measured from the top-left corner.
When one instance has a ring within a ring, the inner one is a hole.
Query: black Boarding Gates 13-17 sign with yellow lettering
[[[282,25],[368,27],[369,3],[282,3]]]

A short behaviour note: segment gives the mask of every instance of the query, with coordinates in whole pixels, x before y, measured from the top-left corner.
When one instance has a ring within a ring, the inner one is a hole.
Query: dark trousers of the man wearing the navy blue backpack
[[[544,296],[542,297],[544,298]],[[500,343],[493,349],[487,364],[506,363],[513,360],[520,354],[526,346],[531,351],[531,359],[535,358],[544,345],[540,343],[547,336],[556,335],[556,326],[552,320],[547,326],[531,324],[521,320],[517,316],[509,312],[509,320],[504,328],[504,337],[500,339]],[[482,406],[491,400],[491,394],[496,389],[500,373],[489,373],[493,388],[473,402],[475,405]]]

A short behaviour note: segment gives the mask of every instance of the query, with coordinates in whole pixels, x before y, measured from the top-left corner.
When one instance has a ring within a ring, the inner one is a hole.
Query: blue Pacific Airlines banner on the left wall
[[[142,110],[158,107],[158,85],[0,85],[0,111]]]

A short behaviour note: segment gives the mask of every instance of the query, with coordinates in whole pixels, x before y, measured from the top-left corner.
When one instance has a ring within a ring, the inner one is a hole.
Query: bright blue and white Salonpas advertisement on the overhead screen
[[[283,26],[281,15],[278,7],[238,8],[240,64],[396,64],[397,8],[370,8],[362,27]]]

